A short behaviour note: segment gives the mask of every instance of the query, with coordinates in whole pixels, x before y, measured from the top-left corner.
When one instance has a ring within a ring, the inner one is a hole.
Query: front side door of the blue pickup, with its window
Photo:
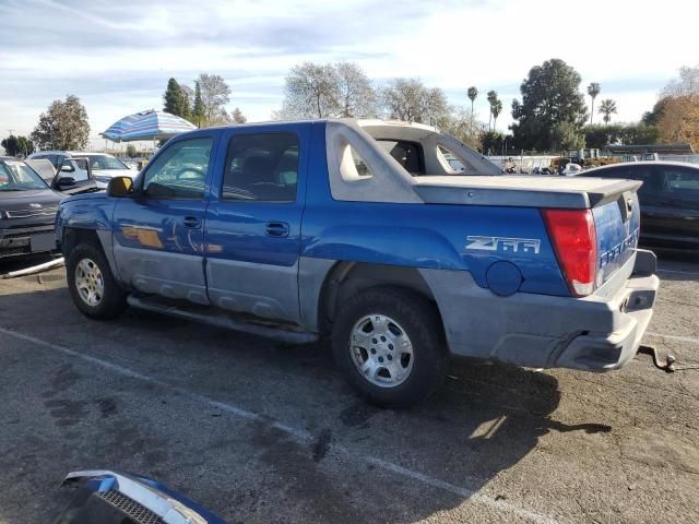
[[[168,298],[209,303],[203,243],[214,134],[177,140],[147,166],[114,211],[114,257],[122,281]]]

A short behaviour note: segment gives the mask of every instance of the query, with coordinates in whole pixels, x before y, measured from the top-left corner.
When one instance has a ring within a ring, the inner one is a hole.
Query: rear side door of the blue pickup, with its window
[[[211,302],[299,321],[298,257],[310,124],[226,130],[222,179],[206,212]]]

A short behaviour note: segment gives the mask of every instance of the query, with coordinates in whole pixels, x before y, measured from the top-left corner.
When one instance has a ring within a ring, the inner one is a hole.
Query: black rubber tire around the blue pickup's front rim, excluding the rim
[[[90,305],[82,297],[76,286],[75,270],[83,260],[91,260],[102,274],[103,294],[98,303]],[[75,246],[66,261],[68,276],[68,289],[73,302],[80,311],[91,319],[112,319],[123,311],[127,306],[127,295],[114,275],[102,248],[93,243],[80,243]]]

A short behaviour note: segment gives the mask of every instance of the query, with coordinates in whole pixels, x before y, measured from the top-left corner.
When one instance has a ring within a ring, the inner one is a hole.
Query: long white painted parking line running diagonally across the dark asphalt
[[[235,406],[233,404],[228,404],[225,402],[220,402],[220,401],[215,401],[209,396],[205,395],[201,395],[199,393],[193,393],[191,391],[185,390],[182,388],[178,388],[176,385],[171,385],[168,384],[167,382],[163,382],[162,380],[155,379],[153,377],[150,377],[147,374],[143,374],[140,373],[138,371],[133,371],[132,369],[126,368],[123,366],[119,366],[118,364],[114,364],[114,362],[109,362],[107,360],[103,360],[100,358],[97,357],[93,357],[92,355],[85,355],[81,352],[76,352],[74,349],[70,349],[68,347],[58,345],[58,344],[54,344],[51,342],[47,342],[47,341],[43,341],[40,338],[36,338],[32,335],[26,335],[24,333],[19,333],[16,331],[11,331],[11,330],[5,330],[4,327],[0,327],[0,333],[8,335],[8,336],[12,336],[14,338],[17,338],[20,341],[24,341],[24,342],[29,342],[32,344],[35,344],[37,346],[42,346],[48,349],[52,349],[55,352],[58,353],[62,353],[63,355],[68,355],[70,357],[74,357],[74,358],[80,358],[86,362],[90,364],[94,364],[96,366],[100,366],[105,369],[108,369],[109,371],[112,371],[117,374],[121,374],[125,377],[129,377],[131,379],[135,379],[135,380],[140,380],[142,382],[147,382],[150,384],[155,384],[159,388],[169,390],[171,392],[178,393],[185,397],[188,397],[192,401],[197,401],[200,402],[202,404],[206,404],[211,407],[215,407],[217,409],[221,409],[225,413],[228,413],[230,415],[233,415],[234,417],[238,417],[238,418],[242,418],[245,420],[254,420],[254,421],[262,421],[264,424],[268,424],[270,427],[275,428],[280,431],[283,431],[284,433],[288,434],[289,437],[293,437],[294,439],[296,439],[297,441],[301,442],[301,443],[312,443],[316,441],[316,439],[313,438],[313,436],[304,430],[304,429],[299,429],[299,428],[294,428],[292,426],[288,426],[284,422],[277,421],[277,420],[273,420],[270,419],[268,417],[262,417],[261,415],[258,415],[256,413],[252,412],[248,412],[247,409],[244,409],[241,407]],[[482,495],[482,493],[477,493],[476,491],[469,489],[469,488],[464,488],[462,486],[458,486],[451,483],[447,483],[445,480],[440,480],[439,478],[436,477],[431,477],[429,475],[425,475],[423,473],[419,472],[415,472],[413,469],[408,469],[405,468],[399,464],[392,463],[392,462],[388,462],[388,461],[383,461],[381,458],[371,456],[371,455],[362,455],[362,454],[357,454],[354,451],[351,451],[348,448],[345,448],[344,445],[341,444],[331,444],[330,445],[330,450],[331,451],[335,451],[337,453],[342,453],[343,455],[347,455],[351,458],[355,458],[355,460],[360,460],[362,462],[365,462],[366,464],[371,464],[375,467],[379,467],[386,472],[390,472],[393,473],[395,475],[400,475],[402,477],[406,477],[413,480],[416,480],[418,483],[422,483],[426,486],[429,486],[431,488],[436,488],[436,489],[440,489],[447,492],[450,492],[452,495],[455,495],[458,497],[463,497],[465,499],[472,500],[474,502],[481,503],[483,505],[486,505],[488,508],[495,509],[495,510],[499,510],[501,512],[505,513],[510,513],[510,514],[514,514],[518,515],[520,517],[526,519],[531,522],[535,522],[537,524],[558,524],[556,520],[547,516],[547,515],[543,515],[541,513],[536,513],[533,511],[529,511],[525,510],[523,508],[520,508],[518,505],[513,505],[511,503],[508,502],[503,502],[501,500],[497,500],[493,497],[488,497],[487,495]]]

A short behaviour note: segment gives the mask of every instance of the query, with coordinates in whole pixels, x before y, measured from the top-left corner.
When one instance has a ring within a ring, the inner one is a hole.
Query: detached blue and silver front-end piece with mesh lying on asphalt
[[[78,492],[54,524],[225,524],[196,502],[146,477],[110,471],[69,473]]]

